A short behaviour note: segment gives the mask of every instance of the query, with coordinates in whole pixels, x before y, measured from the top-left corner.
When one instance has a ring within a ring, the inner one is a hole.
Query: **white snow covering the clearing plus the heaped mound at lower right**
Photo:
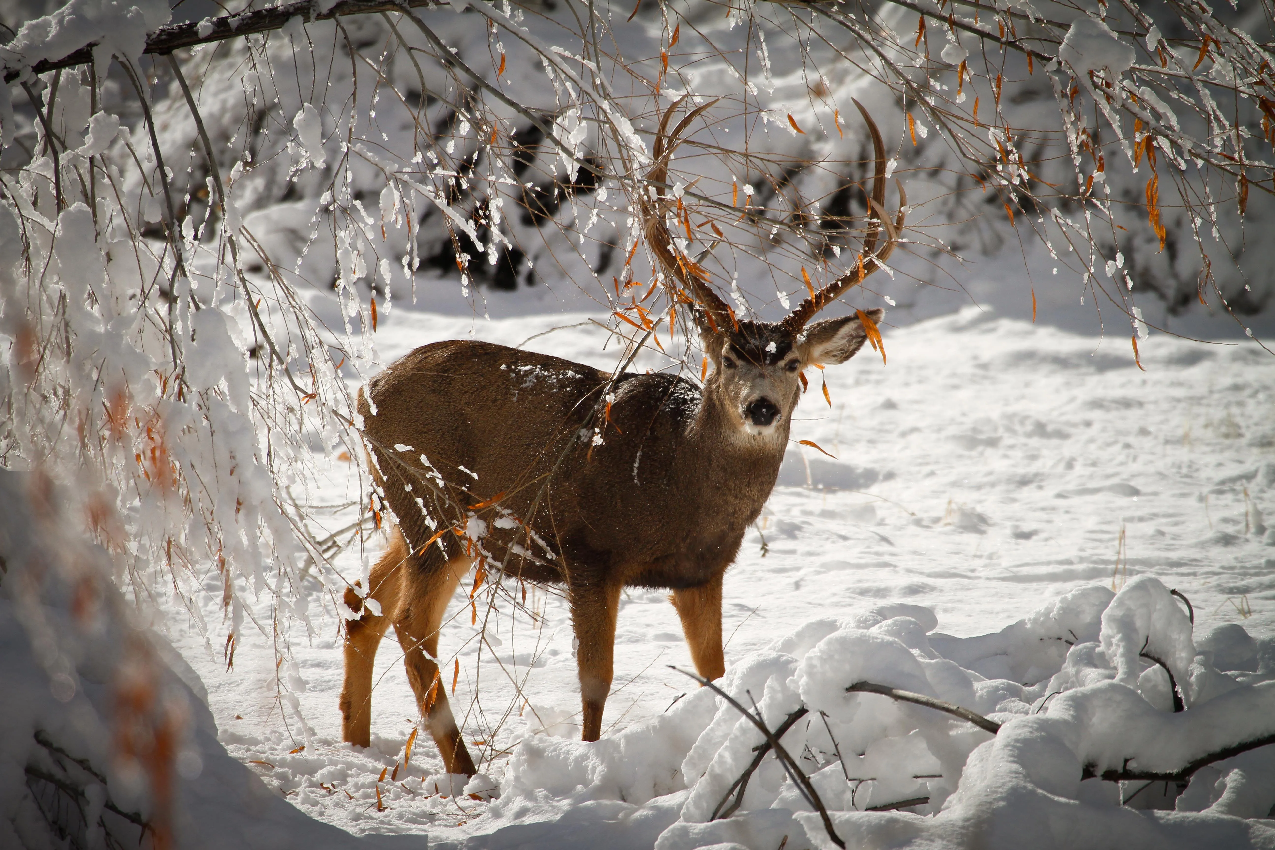
[[[607,331],[584,316],[537,313],[527,296],[488,298],[523,315],[486,321],[400,305],[377,331],[381,357],[432,339],[518,344],[551,331],[528,345],[612,364]],[[1275,618],[1264,600],[1275,535],[1250,510],[1269,511],[1275,488],[1269,364],[1242,345],[1162,334],[1141,347],[1142,373],[1127,342],[975,308],[886,338],[889,366],[868,353],[830,367],[834,407],[816,391],[798,408],[793,438],[838,460],[789,451],[760,533],[727,573],[722,686],[746,706],[755,700],[771,728],[810,707],[817,721],[798,723],[785,747],[798,756],[808,746],[813,761],[802,766],[852,846],[952,846],[975,833],[1016,846],[1042,818],[1058,825],[1044,846],[1267,846],[1264,822],[1235,819],[1275,803],[1265,749],[1201,771],[1177,812],[1172,796],[1169,810],[1118,805],[1145,782],[1079,777],[1082,765],[1127,758],[1172,771],[1269,731],[1275,692],[1262,683],[1275,674]],[[643,354],[638,366],[664,362]],[[357,501],[340,464],[334,473],[316,502]],[[375,535],[362,553],[356,543],[342,568],[358,575],[379,545]],[[1192,601],[1193,627],[1170,587]],[[372,747],[339,743],[339,613],[317,586],[310,593],[314,631],[309,645],[293,641],[305,683],[293,696],[311,728],[300,753],[289,751],[301,733],[279,723],[265,641],[246,635],[226,672],[194,630],[177,618],[170,628],[208,684],[227,749],[268,762],[254,770],[319,819],[356,835],[423,832],[444,847],[774,847],[784,835],[789,846],[831,846],[773,760],[741,809],[710,822],[761,737],[666,666],[692,669],[663,593],[623,598],[604,734],[584,744],[562,599],[532,590],[542,624],[504,614],[479,668],[462,582],[453,604],[465,613],[445,627],[440,659],[445,669],[460,659],[453,700],[467,738],[486,742],[476,751],[499,784],[492,802],[453,796],[460,786],[423,737],[404,765],[416,709],[393,645],[377,656]],[[1173,670],[1184,712],[1172,711],[1168,677],[1144,651]],[[1005,726],[992,738],[931,709],[844,692],[859,679]],[[377,782],[397,767],[395,782]],[[862,812],[913,796],[931,803]]]

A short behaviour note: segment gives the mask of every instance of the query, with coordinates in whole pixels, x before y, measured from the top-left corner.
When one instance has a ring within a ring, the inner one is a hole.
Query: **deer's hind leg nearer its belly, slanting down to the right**
[[[448,772],[473,776],[478,770],[460,738],[446,686],[432,660],[439,656],[439,630],[448,601],[468,571],[469,559],[463,556],[444,558],[436,547],[428,547],[419,557],[413,556],[412,562],[405,580],[405,604],[394,619],[407,678],[425,717],[426,731],[439,746]]]

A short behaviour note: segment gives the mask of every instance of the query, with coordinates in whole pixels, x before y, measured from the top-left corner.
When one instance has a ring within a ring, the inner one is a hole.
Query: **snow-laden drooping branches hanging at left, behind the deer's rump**
[[[305,621],[293,589],[310,562],[344,589],[302,506],[315,449],[357,456],[348,390],[287,282],[244,271],[251,233],[207,231],[214,206],[238,218],[237,175],[205,185],[196,223],[176,152],[154,144],[149,120],[130,133],[102,108],[105,92],[144,85],[139,56],[167,6],[91,6],[27,22],[4,54],[29,66],[97,38],[103,75],[112,52],[120,64],[106,82],[56,71],[37,147],[0,178],[0,464],[69,487],[73,525],[111,552],[134,599],[185,600],[232,659],[247,594],[273,595],[289,623]],[[5,122],[4,143],[20,141]],[[205,593],[224,626],[190,604]],[[286,650],[288,630],[277,635]]]

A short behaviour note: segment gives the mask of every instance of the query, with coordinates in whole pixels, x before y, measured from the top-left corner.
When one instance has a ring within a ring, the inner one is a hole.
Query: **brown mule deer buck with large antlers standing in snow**
[[[682,131],[663,116],[646,186],[663,186]],[[872,135],[872,222],[856,268],[811,291],[782,322],[738,320],[672,240],[674,201],[638,196],[648,247],[671,298],[690,306],[713,372],[703,389],[672,375],[617,376],[479,342],[407,354],[360,393],[379,492],[397,519],[347,626],[342,735],[366,747],[372,658],[393,624],[426,729],[451,774],[474,774],[437,666],[448,601],[473,561],[509,579],[565,586],[571,607],[584,740],[597,740],[611,689],[625,586],[667,587],[700,675],[724,673],[722,576],[756,520],[788,443],[802,371],[853,357],[884,311],[808,324],[894,250],[907,199],[885,214],[881,134]],[[881,231],[886,241],[877,249]],[[598,433],[604,438],[599,442]],[[481,517],[487,519],[481,519]],[[454,533],[453,533],[454,531]]]

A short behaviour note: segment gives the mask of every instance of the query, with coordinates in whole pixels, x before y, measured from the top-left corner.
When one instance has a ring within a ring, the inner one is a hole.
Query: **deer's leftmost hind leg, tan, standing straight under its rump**
[[[358,619],[346,622],[346,682],[340,689],[340,737],[358,747],[371,744],[372,661],[376,647],[398,610],[407,568],[407,543],[402,531],[390,531],[390,543],[368,576],[367,595],[381,613],[374,614],[353,587],[346,589],[346,605],[358,612]]]

